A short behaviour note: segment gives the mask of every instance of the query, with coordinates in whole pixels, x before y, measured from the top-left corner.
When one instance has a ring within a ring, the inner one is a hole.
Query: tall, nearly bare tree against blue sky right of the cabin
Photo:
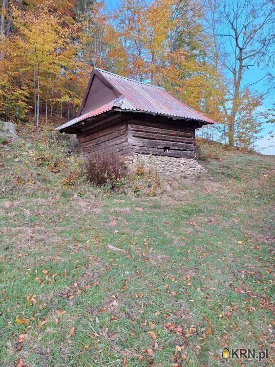
[[[212,29],[215,67],[227,78],[227,104],[223,109],[228,123],[228,142],[233,145],[241,96],[247,88],[268,76],[255,78],[250,85],[245,83],[249,69],[271,61],[275,7],[269,0],[225,0],[224,3],[208,0],[208,5],[207,21]]]

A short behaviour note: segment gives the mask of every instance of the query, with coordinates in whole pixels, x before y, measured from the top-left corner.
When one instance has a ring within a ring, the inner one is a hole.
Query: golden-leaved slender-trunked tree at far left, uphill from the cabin
[[[30,0],[27,5],[13,6],[12,31],[5,39],[5,58],[0,61],[4,70],[1,115],[16,120],[16,115],[24,118],[32,108],[38,126],[41,108],[46,120],[48,111],[52,115],[59,110],[62,115],[64,106],[66,116],[75,113],[85,88],[86,63],[79,60],[79,47],[71,37],[79,32],[71,7],[67,0]],[[14,93],[18,98],[9,101]]]

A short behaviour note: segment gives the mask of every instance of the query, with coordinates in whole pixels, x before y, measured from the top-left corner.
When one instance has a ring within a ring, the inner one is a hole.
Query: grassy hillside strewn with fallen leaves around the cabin
[[[270,365],[274,158],[204,146],[207,174],[144,196],[92,187],[65,147],[0,148],[0,366]]]

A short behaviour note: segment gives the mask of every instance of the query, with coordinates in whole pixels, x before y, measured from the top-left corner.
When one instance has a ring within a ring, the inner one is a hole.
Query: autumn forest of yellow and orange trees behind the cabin
[[[220,122],[205,138],[254,148],[272,111],[244,76],[272,65],[272,0],[0,0],[0,119],[76,116],[93,66],[165,87]],[[274,87],[272,75],[264,77]],[[259,80],[260,81],[260,80]],[[264,111],[260,113],[260,111]]]

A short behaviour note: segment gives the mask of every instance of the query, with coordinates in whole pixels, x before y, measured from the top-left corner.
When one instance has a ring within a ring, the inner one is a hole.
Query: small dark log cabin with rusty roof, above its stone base
[[[213,123],[164,88],[94,68],[77,117],[56,130],[76,134],[87,155],[195,158],[195,129]]]

